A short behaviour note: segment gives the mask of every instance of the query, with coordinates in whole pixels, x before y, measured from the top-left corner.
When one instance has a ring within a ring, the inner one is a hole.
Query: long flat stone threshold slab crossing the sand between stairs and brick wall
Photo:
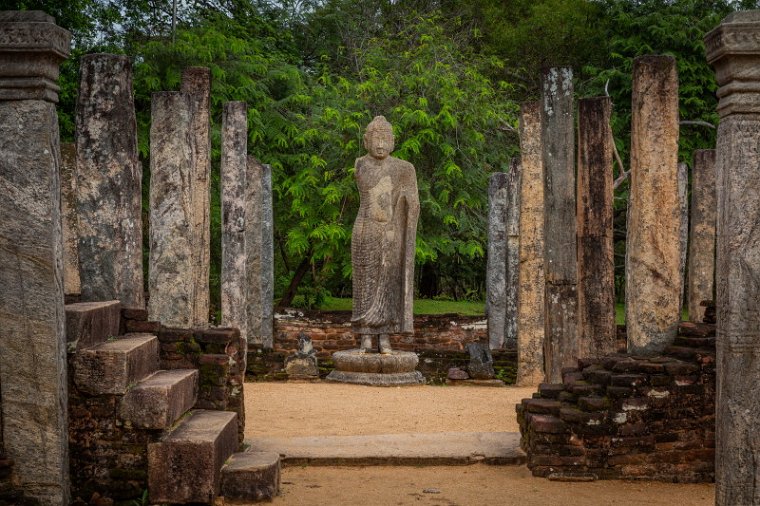
[[[277,452],[282,464],[314,466],[522,465],[517,432],[441,432],[370,436],[256,437],[250,451]]]

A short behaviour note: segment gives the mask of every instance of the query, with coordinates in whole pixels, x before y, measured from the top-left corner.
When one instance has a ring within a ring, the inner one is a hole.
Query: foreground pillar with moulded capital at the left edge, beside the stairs
[[[0,385],[12,482],[68,504],[58,64],[71,35],[40,11],[0,12]]]

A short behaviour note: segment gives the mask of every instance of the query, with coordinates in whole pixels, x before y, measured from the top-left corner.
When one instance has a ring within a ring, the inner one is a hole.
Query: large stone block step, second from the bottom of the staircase
[[[213,502],[222,465],[237,448],[237,414],[191,411],[161,441],[148,445],[151,503]]]

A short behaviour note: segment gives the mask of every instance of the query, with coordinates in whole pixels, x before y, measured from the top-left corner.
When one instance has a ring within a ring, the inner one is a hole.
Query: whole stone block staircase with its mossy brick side
[[[208,504],[224,477],[230,499],[276,495],[279,455],[239,454],[225,466],[238,449],[237,414],[193,409],[199,371],[159,370],[157,336],[121,334],[120,315],[118,301],[66,306],[75,493],[118,503],[147,489],[151,503]],[[268,481],[238,483],[251,472]]]

